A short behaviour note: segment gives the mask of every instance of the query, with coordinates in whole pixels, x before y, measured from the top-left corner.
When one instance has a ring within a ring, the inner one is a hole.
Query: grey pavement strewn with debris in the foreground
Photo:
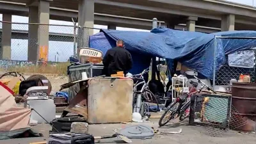
[[[158,129],[161,132],[166,131],[179,131],[180,134],[155,134],[154,138],[146,140],[132,140],[132,143],[136,144],[156,144],[156,143],[172,143],[172,144],[252,144],[256,141],[256,134],[252,133],[240,133],[236,131],[227,131],[219,134],[217,137],[209,136],[209,131],[206,131],[203,126],[190,126],[188,122],[170,122],[165,127],[158,127],[159,119],[150,119],[150,122],[141,123],[142,125],[149,125]],[[104,136],[114,134],[114,129],[122,129],[130,125],[140,125],[140,123],[131,124],[97,124],[89,125],[89,133],[93,136]],[[21,138],[13,140],[1,140],[1,144],[28,144],[32,142],[47,141],[49,137],[49,130],[51,126],[49,124],[38,124],[33,126],[35,130],[44,134],[42,138]],[[111,138],[108,140],[100,140],[99,143],[124,143],[117,138]]]

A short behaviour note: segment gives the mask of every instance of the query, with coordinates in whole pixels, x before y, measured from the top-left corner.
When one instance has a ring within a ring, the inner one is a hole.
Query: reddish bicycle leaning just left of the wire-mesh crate
[[[196,76],[194,76],[194,77],[198,81],[198,83],[200,83],[202,85],[200,87],[200,90],[198,90],[198,91],[195,90],[195,88],[198,86],[197,82],[190,81],[190,84],[192,85],[191,90],[189,90],[188,93],[184,93],[183,95],[180,95],[179,97],[177,97],[177,99],[174,100],[166,108],[166,111],[161,116],[159,123],[158,123],[160,127],[166,125],[168,122],[170,122],[170,120],[173,120],[176,115],[177,115],[177,117],[179,117],[180,121],[189,117],[189,115],[187,115],[187,113],[186,113],[186,110],[189,108],[189,106],[191,104],[190,97],[193,93],[200,93],[200,92],[202,92],[203,88],[205,88],[205,87],[207,87],[207,90],[212,91],[213,93],[216,93],[211,88],[209,88],[209,86],[207,86],[207,84],[205,84],[200,79],[198,79],[198,77],[196,77]],[[168,118],[164,119],[165,116],[168,116]],[[164,120],[166,120],[166,121],[164,121]]]

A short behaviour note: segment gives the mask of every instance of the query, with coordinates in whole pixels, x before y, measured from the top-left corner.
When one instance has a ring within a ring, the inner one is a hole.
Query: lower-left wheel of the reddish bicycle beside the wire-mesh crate
[[[170,106],[167,107],[166,111],[161,116],[158,122],[159,127],[163,127],[168,122],[170,122],[170,120],[174,119],[175,114],[177,113],[177,108],[179,108],[179,106],[180,106],[180,103],[175,100],[174,102],[172,102],[172,104],[170,104]]]

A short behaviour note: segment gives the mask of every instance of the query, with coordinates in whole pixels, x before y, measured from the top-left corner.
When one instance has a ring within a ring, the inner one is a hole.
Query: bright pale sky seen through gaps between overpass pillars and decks
[[[3,15],[0,15],[0,20],[3,20]],[[28,23],[28,17],[20,17],[17,15],[12,15],[12,22],[22,22]],[[62,24],[62,25],[70,25],[74,26],[73,22],[66,22],[61,20],[50,20],[50,24]],[[2,24],[0,23],[0,28],[2,28]],[[94,25],[93,33],[99,33],[99,29],[107,29],[108,26],[102,25]],[[28,25],[23,24],[12,24],[12,29],[19,30],[28,30]],[[121,28],[117,27],[116,30],[122,31],[148,31],[144,29],[131,29],[131,28]],[[49,32],[54,33],[67,33],[73,34],[73,27],[60,27],[60,26],[50,26]],[[149,31],[148,31],[149,32]],[[11,44],[12,51],[12,60],[28,60],[28,40],[20,40],[20,39],[12,39]],[[67,61],[70,56],[73,55],[74,43],[73,42],[54,42],[49,41],[49,61]]]

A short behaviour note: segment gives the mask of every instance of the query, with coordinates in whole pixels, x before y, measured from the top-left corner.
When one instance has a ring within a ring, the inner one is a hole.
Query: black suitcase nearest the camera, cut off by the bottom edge
[[[94,144],[90,134],[50,134],[47,144]]]

